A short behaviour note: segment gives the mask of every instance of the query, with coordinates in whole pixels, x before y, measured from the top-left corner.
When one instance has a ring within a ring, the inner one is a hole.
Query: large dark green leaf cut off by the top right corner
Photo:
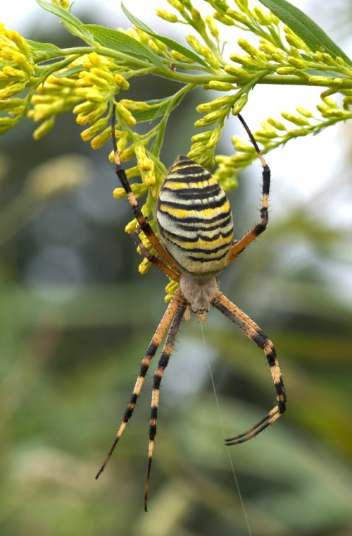
[[[348,65],[352,61],[332,39],[303,11],[292,6],[286,0],[260,0],[274,15],[282,20],[298,37],[304,41],[313,52],[327,52],[333,58],[339,56]]]

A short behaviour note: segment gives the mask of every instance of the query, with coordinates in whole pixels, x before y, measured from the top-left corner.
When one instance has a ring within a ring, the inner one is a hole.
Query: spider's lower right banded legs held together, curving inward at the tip
[[[284,413],[284,410],[286,409],[284,382],[282,381],[279,363],[277,362],[275,347],[272,344],[272,341],[268,339],[260,327],[258,327],[253,320],[245,315],[244,312],[237,307],[237,305],[234,305],[234,303],[228,300],[221,292],[217,293],[212,301],[212,305],[222,312],[225,317],[229,318],[231,322],[237,324],[239,329],[241,329],[241,331],[243,331],[244,334],[249,337],[249,339],[256,343],[259,348],[263,348],[270,366],[272,381],[274,382],[276,391],[277,406],[275,406],[275,408],[273,408],[268,415],[265,415],[265,418],[257,422],[256,425],[249,428],[249,430],[243,434],[225,439],[227,446],[237,445],[239,443],[244,443],[244,441],[248,441],[252,437],[258,435],[260,432],[263,432],[266,427],[272,425],[272,423],[275,422],[275,420],[277,420],[282,413]]]

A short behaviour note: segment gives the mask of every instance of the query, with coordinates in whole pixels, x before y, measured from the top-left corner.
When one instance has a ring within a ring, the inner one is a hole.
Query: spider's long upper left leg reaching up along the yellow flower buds
[[[156,237],[153,229],[151,229],[150,224],[146,219],[144,218],[142,214],[142,210],[140,209],[137,199],[134,195],[134,193],[131,190],[130,183],[128,182],[125,170],[121,166],[120,158],[118,157],[118,147],[116,145],[116,136],[115,136],[115,104],[113,105],[113,113],[111,115],[111,138],[113,140],[113,153],[115,158],[115,166],[116,166],[116,175],[118,176],[118,179],[122,185],[122,188],[125,190],[127,194],[128,202],[130,203],[132,210],[134,212],[134,217],[137,219],[140,228],[148,238],[149,242],[153,246],[153,248],[156,250],[158,255],[161,256],[161,258],[164,260],[166,264],[168,264],[170,267],[175,268],[175,262],[172,260],[172,257],[166,252],[159,242],[158,238]]]

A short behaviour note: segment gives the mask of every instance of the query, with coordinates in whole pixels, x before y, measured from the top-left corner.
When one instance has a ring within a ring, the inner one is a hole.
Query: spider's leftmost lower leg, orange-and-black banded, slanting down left
[[[98,473],[96,474],[96,478],[99,478],[101,473],[103,473],[103,470],[106,468],[106,465],[108,461],[111,458],[111,454],[115,450],[115,446],[118,444],[118,441],[120,440],[120,437],[122,436],[123,432],[125,431],[125,428],[127,426],[127,422],[132,417],[133,410],[137,403],[137,398],[142,390],[142,386],[144,383],[144,378],[146,377],[146,372],[149,369],[149,365],[151,363],[152,358],[154,357],[156,351],[158,350],[158,347],[161,344],[161,341],[163,340],[163,337],[166,333],[166,330],[168,329],[168,326],[170,322],[172,321],[172,317],[175,316],[175,312],[177,311],[177,308],[180,305],[180,291],[176,291],[175,295],[173,296],[172,300],[170,301],[167,310],[165,311],[163,318],[161,319],[160,324],[158,325],[158,328],[156,329],[156,332],[153,336],[153,339],[151,339],[151,343],[149,344],[149,347],[146,351],[146,355],[144,355],[144,358],[141,363],[141,367],[139,370],[139,375],[137,377],[137,382],[134,385],[134,389],[130,398],[130,402],[128,403],[128,406],[125,410],[125,414],[123,415],[122,423],[120,425],[120,428],[118,430],[118,433],[116,434],[115,440],[113,441],[113,444],[111,446],[111,449],[108,451],[108,454],[103,461],[103,464],[101,465],[101,468],[99,469]]]

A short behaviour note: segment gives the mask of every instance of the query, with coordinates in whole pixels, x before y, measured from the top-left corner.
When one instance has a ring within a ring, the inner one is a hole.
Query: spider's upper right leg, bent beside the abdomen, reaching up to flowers
[[[239,114],[238,115],[239,121],[241,121],[242,125],[246,129],[246,133],[249,135],[249,138],[251,139],[251,142],[253,143],[253,146],[258,154],[258,157],[260,159],[260,163],[263,166],[263,190],[262,190],[262,202],[260,207],[260,224],[257,224],[253,227],[251,231],[246,233],[241,240],[235,241],[232,244],[232,248],[230,250],[230,255],[227,260],[227,264],[230,264],[234,260],[239,253],[241,253],[244,248],[247,247],[253,240],[256,240],[256,238],[265,231],[266,226],[268,225],[268,202],[269,202],[269,190],[270,190],[270,169],[268,164],[265,162],[265,159],[263,157],[263,154],[261,153],[256,140],[253,138],[253,134],[251,133],[251,130],[249,130],[248,126],[246,125],[244,118]]]

